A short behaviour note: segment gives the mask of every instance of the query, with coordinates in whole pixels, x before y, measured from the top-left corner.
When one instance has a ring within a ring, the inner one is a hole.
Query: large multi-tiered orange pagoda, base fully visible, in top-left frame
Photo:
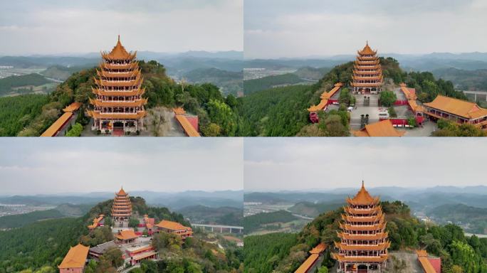
[[[112,51],[101,55],[103,63],[93,88],[95,98],[90,99],[93,110],[88,111],[94,120],[92,129],[116,135],[142,130],[147,99],[142,97],[145,89],[141,87],[137,52],[127,52],[118,36]]]

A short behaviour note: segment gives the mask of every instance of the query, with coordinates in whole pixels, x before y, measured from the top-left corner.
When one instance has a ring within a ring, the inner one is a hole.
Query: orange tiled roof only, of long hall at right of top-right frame
[[[476,119],[478,117],[487,116],[487,109],[481,108],[474,102],[467,102],[465,100],[454,99],[453,97],[445,97],[438,95],[432,102],[424,104],[427,107],[439,109],[444,112],[456,114],[467,119]]]

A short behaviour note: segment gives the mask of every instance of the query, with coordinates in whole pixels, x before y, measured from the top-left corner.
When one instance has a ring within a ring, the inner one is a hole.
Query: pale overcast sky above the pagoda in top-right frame
[[[485,0],[245,0],[245,58],[487,51]]]

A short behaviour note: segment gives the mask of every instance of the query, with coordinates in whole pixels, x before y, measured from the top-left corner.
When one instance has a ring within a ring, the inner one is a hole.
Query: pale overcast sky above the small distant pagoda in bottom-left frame
[[[0,139],[0,195],[243,189],[242,139]]]

